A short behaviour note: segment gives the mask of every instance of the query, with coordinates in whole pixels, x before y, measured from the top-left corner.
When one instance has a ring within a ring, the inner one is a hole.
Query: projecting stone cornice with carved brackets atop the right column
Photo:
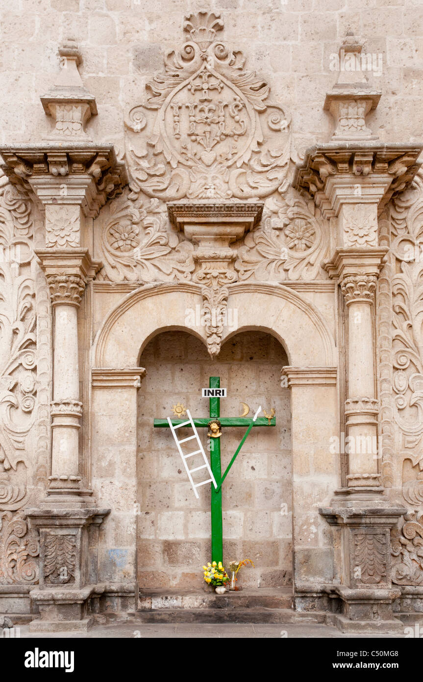
[[[379,210],[413,180],[422,145],[383,145],[379,142],[331,142],[307,149],[296,166],[294,188],[306,191],[324,217],[336,216],[343,194],[354,203],[378,203]],[[359,187],[359,192],[357,192]]]

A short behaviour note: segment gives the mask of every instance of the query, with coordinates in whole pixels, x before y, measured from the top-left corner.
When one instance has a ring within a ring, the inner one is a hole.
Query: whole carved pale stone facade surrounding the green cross
[[[208,492],[152,419],[212,372],[277,410],[224,493],[245,584],[422,612],[421,3],[261,5],[0,0],[0,612],[33,629],[198,584]]]

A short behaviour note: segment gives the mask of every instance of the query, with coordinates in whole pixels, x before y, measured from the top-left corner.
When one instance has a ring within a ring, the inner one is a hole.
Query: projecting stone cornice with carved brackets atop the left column
[[[95,218],[127,185],[125,164],[113,145],[44,143],[0,147],[1,166],[12,183],[23,183],[45,205],[79,204]]]

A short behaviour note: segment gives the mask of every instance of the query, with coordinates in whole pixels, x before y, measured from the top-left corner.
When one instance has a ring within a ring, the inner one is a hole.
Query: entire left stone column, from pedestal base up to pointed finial
[[[87,629],[98,580],[98,527],[110,509],[94,506],[81,488],[78,432],[82,419],[78,368],[78,308],[101,263],[93,261],[93,222],[108,198],[127,183],[112,145],[95,145],[85,125],[96,115],[84,88],[74,41],[59,53],[61,73],[42,98],[54,130],[39,145],[1,148],[12,183],[23,183],[45,211],[45,246],[37,250],[50,288],[54,321],[52,471],[40,509],[27,516],[40,532],[40,587],[31,591],[40,619],[33,630]],[[87,377],[89,380],[89,377]],[[103,587],[104,589],[104,587]]]

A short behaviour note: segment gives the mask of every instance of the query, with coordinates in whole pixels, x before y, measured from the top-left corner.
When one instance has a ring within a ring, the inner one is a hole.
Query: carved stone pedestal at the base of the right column
[[[406,509],[383,500],[332,503],[319,513],[334,533],[333,591],[342,610],[335,625],[343,632],[403,632],[392,611],[401,589],[392,587],[390,529]]]

